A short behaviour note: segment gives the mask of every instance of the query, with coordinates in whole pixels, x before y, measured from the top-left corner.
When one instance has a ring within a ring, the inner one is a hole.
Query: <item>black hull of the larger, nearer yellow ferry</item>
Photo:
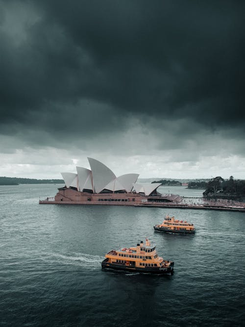
[[[145,273],[145,274],[157,274],[157,275],[163,275],[163,274],[172,275],[173,265],[174,263],[172,262],[170,267],[166,267],[166,268],[159,268],[159,267],[139,268],[139,267],[129,267],[116,263],[109,263],[107,259],[103,260],[101,263],[102,268],[106,268],[106,269],[123,270],[130,273]]]

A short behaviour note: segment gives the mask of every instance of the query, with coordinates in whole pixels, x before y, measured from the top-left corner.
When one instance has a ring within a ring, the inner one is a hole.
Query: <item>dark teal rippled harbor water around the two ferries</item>
[[[1,326],[244,326],[245,213],[39,204],[59,186],[0,186]],[[166,214],[196,234],[154,232]],[[172,276],[101,270],[146,237]]]

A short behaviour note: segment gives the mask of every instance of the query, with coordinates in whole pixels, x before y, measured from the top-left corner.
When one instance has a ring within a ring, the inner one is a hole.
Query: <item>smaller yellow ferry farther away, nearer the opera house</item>
[[[154,226],[155,231],[167,233],[194,234],[196,229],[193,224],[183,220],[175,220],[174,217],[167,215],[160,225]]]

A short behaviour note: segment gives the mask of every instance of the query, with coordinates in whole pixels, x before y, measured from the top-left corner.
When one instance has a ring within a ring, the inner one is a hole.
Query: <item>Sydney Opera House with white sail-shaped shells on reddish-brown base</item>
[[[75,173],[61,173],[65,185],[53,199],[40,203],[59,204],[145,204],[171,202],[157,192],[161,183],[137,183],[138,174],[116,176],[102,162],[88,158],[90,170],[76,167]]]

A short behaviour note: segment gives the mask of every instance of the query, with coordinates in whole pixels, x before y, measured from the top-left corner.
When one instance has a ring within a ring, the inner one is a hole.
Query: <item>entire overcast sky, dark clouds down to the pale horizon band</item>
[[[0,176],[245,178],[245,1],[0,0]]]

